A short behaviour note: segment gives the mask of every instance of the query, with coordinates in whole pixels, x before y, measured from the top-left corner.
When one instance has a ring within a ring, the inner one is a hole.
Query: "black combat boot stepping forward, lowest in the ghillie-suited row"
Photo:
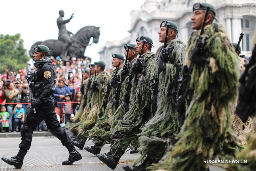
[[[112,155],[97,154],[97,157],[100,159],[100,161],[105,163],[109,168],[114,170],[123,154],[124,154],[124,151],[119,149],[117,150],[115,155],[114,154]]]

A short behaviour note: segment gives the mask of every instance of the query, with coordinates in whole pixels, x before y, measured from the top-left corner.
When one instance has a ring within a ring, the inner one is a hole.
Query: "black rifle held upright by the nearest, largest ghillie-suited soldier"
[[[204,32],[204,27],[205,27],[205,23],[207,20],[207,16],[210,10],[210,6],[207,6],[207,9],[205,11],[205,17],[204,17],[204,21],[201,27],[201,32],[200,32],[200,36],[197,37],[196,39],[196,45],[195,45],[195,52],[202,52],[204,49],[204,45],[206,44],[206,41],[203,41],[203,32]],[[206,37],[207,38],[207,37]],[[189,59],[192,58],[192,53],[189,54]],[[183,69],[183,82],[181,83],[181,86],[178,90],[178,99],[177,99],[177,106],[176,106],[176,111],[178,113],[178,121],[181,125],[183,125],[184,120],[185,120],[185,98],[186,99],[190,99],[193,96],[193,91],[191,91],[189,89],[189,82],[191,80],[191,73],[193,70],[193,61],[191,61],[191,64],[189,66],[189,68],[187,68],[186,66],[184,66]]]

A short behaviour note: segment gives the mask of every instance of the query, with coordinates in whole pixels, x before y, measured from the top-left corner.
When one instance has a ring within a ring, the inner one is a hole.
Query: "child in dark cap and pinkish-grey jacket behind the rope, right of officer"
[[[64,102],[71,102],[71,95],[70,94],[66,94],[64,97]],[[71,113],[73,113],[73,107],[72,107],[72,103],[63,103],[62,104],[62,118],[64,120],[62,120],[62,123],[67,123],[68,121],[70,121],[70,115]]]

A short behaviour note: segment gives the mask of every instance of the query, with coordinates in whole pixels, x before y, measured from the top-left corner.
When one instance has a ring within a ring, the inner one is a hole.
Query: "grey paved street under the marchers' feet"
[[[15,156],[18,152],[18,144],[20,143],[20,137],[13,138],[0,138],[0,156],[11,157]],[[86,142],[86,145],[91,146],[91,141]],[[101,153],[108,152],[109,145],[106,144]],[[67,160],[69,153],[65,146],[61,145],[59,139],[53,136],[46,137],[33,137],[32,145],[24,158],[23,166],[20,170],[91,170],[91,171],[109,171],[112,170],[102,163],[96,156],[87,152],[86,150],[80,150],[82,154],[82,160],[75,162],[73,165],[62,165],[62,161]],[[139,154],[130,154],[126,152],[121,157],[121,162],[133,162]],[[132,163],[130,163],[131,165]],[[0,170],[16,170],[13,166],[9,166],[2,160],[0,160]],[[115,170],[122,170],[122,163],[118,164]],[[210,167],[210,170],[220,170],[219,168]]]

